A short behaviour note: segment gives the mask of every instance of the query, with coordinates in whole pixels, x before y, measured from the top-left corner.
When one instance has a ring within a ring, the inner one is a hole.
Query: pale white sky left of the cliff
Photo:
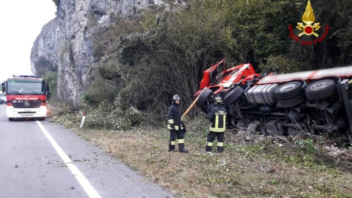
[[[55,18],[52,0],[9,0],[0,7],[0,83],[31,75],[31,49],[42,27]]]

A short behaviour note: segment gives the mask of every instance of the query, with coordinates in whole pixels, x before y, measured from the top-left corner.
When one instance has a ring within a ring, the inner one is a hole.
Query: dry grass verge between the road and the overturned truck
[[[352,197],[350,170],[290,144],[227,142],[225,153],[208,154],[205,135],[194,132],[184,154],[167,151],[165,129],[76,132],[182,197]]]

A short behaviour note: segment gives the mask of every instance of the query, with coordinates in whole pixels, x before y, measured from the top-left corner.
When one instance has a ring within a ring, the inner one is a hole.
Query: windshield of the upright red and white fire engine
[[[42,82],[8,82],[9,94],[43,94],[45,93]]]

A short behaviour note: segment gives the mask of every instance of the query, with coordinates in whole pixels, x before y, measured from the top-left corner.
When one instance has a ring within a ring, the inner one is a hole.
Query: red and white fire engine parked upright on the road
[[[15,118],[46,117],[46,93],[48,83],[43,78],[32,75],[13,75],[2,83],[3,92],[7,97],[7,117]]]

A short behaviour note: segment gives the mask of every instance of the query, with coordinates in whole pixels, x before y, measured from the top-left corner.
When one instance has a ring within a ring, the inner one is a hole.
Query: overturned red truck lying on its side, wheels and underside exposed
[[[251,64],[220,72],[224,64],[225,59],[204,71],[194,95],[206,114],[218,95],[234,115],[228,126],[265,135],[309,132],[352,143],[352,66],[258,74]]]

